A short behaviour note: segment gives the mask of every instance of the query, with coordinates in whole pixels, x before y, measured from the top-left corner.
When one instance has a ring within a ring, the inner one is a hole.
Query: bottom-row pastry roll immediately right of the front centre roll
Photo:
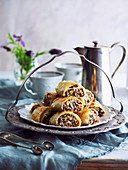
[[[84,108],[81,112],[77,113],[81,119],[81,125],[87,126],[99,122],[98,112],[92,108]]]

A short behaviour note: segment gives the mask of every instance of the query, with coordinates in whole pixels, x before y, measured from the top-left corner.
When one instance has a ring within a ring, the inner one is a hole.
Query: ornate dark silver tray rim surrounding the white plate
[[[17,106],[12,108],[6,115],[6,120],[10,122],[12,125],[23,128],[26,130],[32,130],[41,133],[51,133],[56,135],[89,135],[89,134],[97,134],[102,132],[107,132],[110,130],[117,129],[126,123],[126,117],[122,114],[122,112],[112,108],[112,112],[115,112],[116,115],[112,118],[112,120],[107,123],[97,125],[90,128],[82,128],[82,129],[58,129],[57,127],[43,127],[42,125],[37,125],[33,122],[28,122],[20,118],[18,110],[25,107],[25,105]],[[107,106],[106,106],[107,107]]]

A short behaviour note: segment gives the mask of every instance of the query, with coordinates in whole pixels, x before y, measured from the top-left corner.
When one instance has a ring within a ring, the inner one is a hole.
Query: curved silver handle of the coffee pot
[[[113,79],[115,73],[117,72],[117,70],[119,69],[119,67],[121,66],[121,64],[123,63],[125,57],[127,56],[127,48],[125,47],[125,45],[123,45],[120,42],[116,42],[114,44],[111,45],[111,49],[113,49],[114,47],[121,47],[123,49],[123,55],[121,58],[121,61],[119,62],[118,66],[116,67],[116,69],[114,70],[114,72],[111,75],[111,79]]]

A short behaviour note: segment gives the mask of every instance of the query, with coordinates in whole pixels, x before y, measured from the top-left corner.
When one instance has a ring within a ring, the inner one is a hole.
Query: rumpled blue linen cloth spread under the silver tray
[[[83,159],[98,157],[112,151],[128,136],[128,123],[106,133],[82,136],[38,133],[14,127],[5,120],[5,113],[15,101],[18,89],[13,81],[0,80],[0,132],[11,132],[39,142],[49,140],[55,145],[55,149],[43,150],[43,154],[37,156],[31,150],[0,143],[0,170],[73,170]],[[36,102],[36,97],[22,89],[17,105],[32,102]],[[125,114],[128,115],[126,111]]]

